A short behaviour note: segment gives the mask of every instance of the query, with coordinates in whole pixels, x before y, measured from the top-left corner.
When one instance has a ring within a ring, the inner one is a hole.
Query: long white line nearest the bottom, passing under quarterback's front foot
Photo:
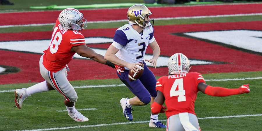
[[[250,114],[250,115],[237,115],[237,116],[223,116],[223,117],[204,117],[198,119],[217,119],[217,118],[232,118],[232,117],[254,117],[262,116],[262,114]],[[161,120],[159,120],[161,121]],[[167,120],[162,120],[167,121]],[[43,131],[43,130],[64,130],[64,129],[75,129],[76,128],[86,128],[86,127],[98,127],[98,126],[108,126],[108,125],[122,125],[122,124],[131,124],[131,123],[147,123],[149,121],[133,121],[133,122],[122,122],[122,123],[111,123],[111,124],[97,124],[97,125],[78,125],[78,126],[69,126],[61,128],[45,128],[45,129],[33,129],[33,130],[22,130],[22,131]]]

